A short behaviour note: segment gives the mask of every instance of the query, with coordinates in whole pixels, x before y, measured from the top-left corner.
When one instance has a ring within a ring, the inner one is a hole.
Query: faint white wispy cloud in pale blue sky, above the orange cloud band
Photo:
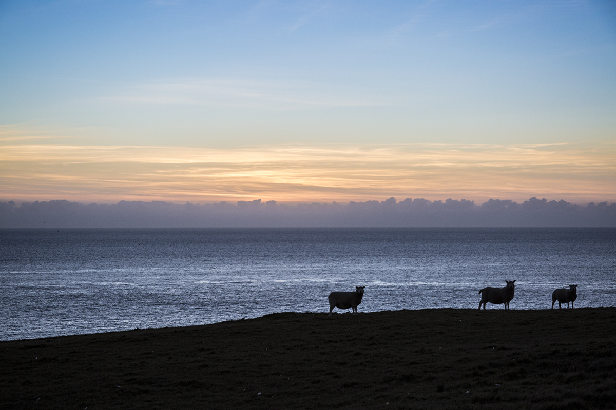
[[[243,79],[179,79],[139,84],[107,101],[152,104],[205,104],[245,108],[293,109],[389,105],[381,97],[365,97],[345,90],[328,90],[310,82]]]

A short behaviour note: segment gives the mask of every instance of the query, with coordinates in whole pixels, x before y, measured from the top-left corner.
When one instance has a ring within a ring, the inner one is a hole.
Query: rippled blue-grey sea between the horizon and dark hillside
[[[616,306],[616,229],[3,229],[0,340],[328,312],[355,286],[360,312],[477,309],[505,280],[511,309],[570,284]]]

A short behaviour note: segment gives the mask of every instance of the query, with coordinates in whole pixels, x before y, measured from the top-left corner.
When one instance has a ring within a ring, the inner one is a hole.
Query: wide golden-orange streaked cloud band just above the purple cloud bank
[[[613,143],[235,149],[4,144],[0,199],[349,202],[531,196],[613,201]],[[24,194],[27,192],[27,194]]]

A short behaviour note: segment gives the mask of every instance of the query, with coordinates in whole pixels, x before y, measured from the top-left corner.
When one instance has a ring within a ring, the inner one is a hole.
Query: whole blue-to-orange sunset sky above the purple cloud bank
[[[0,200],[616,201],[613,1],[0,2]]]

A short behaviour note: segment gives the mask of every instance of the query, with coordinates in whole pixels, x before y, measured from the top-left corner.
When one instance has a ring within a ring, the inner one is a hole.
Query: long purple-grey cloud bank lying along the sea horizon
[[[52,200],[0,202],[0,228],[94,227],[616,227],[616,203],[575,205],[530,198],[405,199],[280,204],[238,201],[207,204],[126,202],[97,205]]]

